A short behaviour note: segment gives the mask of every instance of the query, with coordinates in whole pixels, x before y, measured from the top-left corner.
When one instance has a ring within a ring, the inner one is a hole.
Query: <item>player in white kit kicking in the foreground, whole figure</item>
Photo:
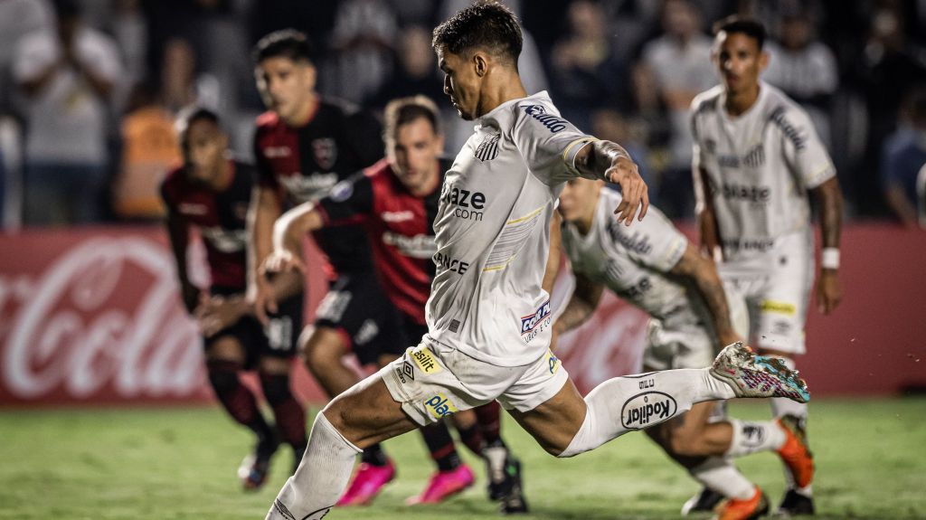
[[[267,518],[318,520],[365,446],[491,400],[547,452],[569,457],[694,402],[809,399],[794,371],[742,343],[710,367],[612,378],[582,398],[548,350],[552,318],[542,280],[554,205],[563,182],[579,176],[620,185],[616,214],[627,225],[638,209],[644,217],[648,198],[623,148],[576,130],[546,93],[527,96],[518,75],[521,42],[518,20],[492,0],[434,30],[444,93],[462,118],[480,124],[444,177],[429,332],[316,416],[306,455]],[[285,266],[281,260],[294,252],[275,242],[268,265]]]

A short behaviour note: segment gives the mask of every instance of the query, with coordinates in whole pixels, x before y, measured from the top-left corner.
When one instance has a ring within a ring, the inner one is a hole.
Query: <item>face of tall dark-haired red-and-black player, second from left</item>
[[[285,56],[269,57],[255,70],[257,90],[270,110],[286,122],[298,122],[308,113],[315,90],[315,67]]]

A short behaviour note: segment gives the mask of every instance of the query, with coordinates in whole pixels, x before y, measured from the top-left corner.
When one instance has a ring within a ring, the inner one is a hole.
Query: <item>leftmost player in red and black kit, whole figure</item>
[[[295,464],[306,450],[306,414],[290,392],[295,333],[302,323],[298,277],[282,275],[269,283],[280,302],[266,327],[244,298],[246,289],[247,208],[255,185],[254,167],[226,154],[228,136],[219,117],[195,108],[178,120],[183,165],[161,185],[167,229],[177,265],[183,304],[195,316],[206,346],[209,383],[229,415],[257,436],[255,452],[239,469],[245,489],[259,488],[280,440],[293,448]],[[211,275],[208,292],[187,275],[190,230],[206,246]],[[238,375],[257,369],[260,386],[276,418],[276,431],[261,414],[257,398]]]

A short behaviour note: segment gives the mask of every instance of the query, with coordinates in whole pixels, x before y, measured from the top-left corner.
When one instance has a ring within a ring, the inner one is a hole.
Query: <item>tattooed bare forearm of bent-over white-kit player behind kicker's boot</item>
[[[695,290],[701,294],[701,298],[707,304],[707,310],[710,312],[721,346],[742,340],[733,330],[730,322],[730,305],[723,291],[723,282],[717,274],[717,266],[710,258],[698,253],[697,249],[689,243],[682,258],[669,272],[693,282]]]

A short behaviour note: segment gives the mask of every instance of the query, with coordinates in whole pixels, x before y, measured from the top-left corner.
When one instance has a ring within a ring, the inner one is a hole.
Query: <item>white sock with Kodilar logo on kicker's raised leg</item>
[[[628,431],[653,427],[695,402],[735,397],[707,368],[665,370],[608,379],[585,396],[585,420],[560,457],[594,450]]]

